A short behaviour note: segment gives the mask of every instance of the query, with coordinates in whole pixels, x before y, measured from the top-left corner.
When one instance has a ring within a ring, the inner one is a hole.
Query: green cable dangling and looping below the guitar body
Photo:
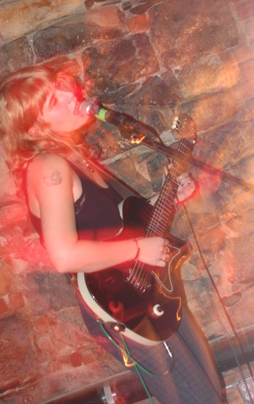
[[[143,377],[142,377],[142,374],[141,374],[140,371],[139,371],[139,368],[140,368],[141,370],[143,370],[145,373],[147,373],[147,374],[149,374],[150,376],[153,376],[153,377],[161,377],[161,376],[163,376],[163,375],[169,373],[169,372],[172,370],[173,366],[174,366],[174,358],[173,358],[173,355],[172,355],[172,353],[170,352],[170,349],[168,348],[166,342],[163,341],[163,342],[164,342],[164,346],[165,346],[165,348],[166,348],[166,350],[167,350],[167,352],[168,352],[170,358],[172,359],[171,366],[170,366],[170,368],[169,368],[166,372],[164,372],[164,373],[162,373],[162,374],[152,373],[150,370],[146,369],[144,366],[142,366],[140,363],[138,363],[138,362],[131,356],[130,351],[129,351],[129,348],[128,348],[128,346],[127,346],[127,343],[126,343],[126,341],[125,341],[125,339],[124,339],[124,337],[123,337],[123,335],[122,335],[121,332],[119,332],[119,334],[120,334],[120,336],[121,336],[121,340],[122,340],[122,343],[123,343],[123,345],[124,345],[124,348],[122,348],[121,345],[120,345],[119,343],[117,343],[117,342],[114,340],[114,338],[108,333],[108,331],[105,329],[105,327],[104,327],[104,324],[106,324],[105,322],[98,320],[98,324],[99,324],[101,330],[104,332],[104,334],[105,334],[105,335],[111,340],[111,342],[122,352],[123,356],[126,355],[127,358],[132,361],[132,364],[133,364],[133,366],[135,367],[135,370],[136,370],[136,372],[137,372],[137,375],[138,375],[138,377],[139,377],[139,379],[140,379],[140,381],[141,381],[141,383],[142,383],[142,385],[143,385],[143,387],[144,387],[144,389],[145,389],[145,391],[146,391],[146,393],[147,393],[147,395],[148,395],[148,397],[149,397],[151,403],[152,403],[152,404],[155,404],[155,402],[154,402],[154,400],[153,400],[153,398],[152,398],[152,396],[151,396],[151,394],[150,394],[150,392],[149,392],[149,390],[148,390],[148,388],[147,388],[147,386],[146,386],[146,383],[145,383],[145,381],[144,381],[144,379],[143,379]],[[124,325],[124,324],[123,324],[123,325]]]

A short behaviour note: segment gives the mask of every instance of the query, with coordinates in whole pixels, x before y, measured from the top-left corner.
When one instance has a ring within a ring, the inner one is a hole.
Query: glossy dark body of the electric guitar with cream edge
[[[109,241],[130,238],[130,232],[135,237],[145,234],[153,210],[146,201],[135,197],[127,198],[122,208],[123,230]],[[183,241],[171,235],[167,238],[170,261],[164,268],[136,262],[121,265],[121,269],[78,275],[80,292],[92,311],[102,321],[123,323],[125,335],[140,343],[167,339],[181,319],[180,266],[188,252]]]

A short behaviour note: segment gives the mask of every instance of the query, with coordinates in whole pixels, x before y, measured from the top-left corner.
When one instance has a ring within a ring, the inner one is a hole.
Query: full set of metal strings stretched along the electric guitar
[[[186,139],[186,138],[182,139],[181,144],[179,145],[179,148],[178,148],[178,153],[179,153],[179,154],[184,154],[185,156],[187,156],[187,155],[183,152],[183,150],[185,150],[185,149],[187,149],[188,151],[190,151],[190,149],[186,146],[187,143],[189,143],[189,140],[188,140],[188,139]],[[181,174],[182,172],[179,171],[179,170],[177,169],[177,167],[181,167],[182,169],[184,169],[184,167],[182,167],[179,162],[177,162],[176,160],[174,160],[174,161],[173,161],[173,166],[172,166],[171,169],[170,169],[170,175],[174,177],[174,179],[172,179],[171,182],[175,183],[175,184],[178,186],[178,183],[177,183],[177,181],[175,181],[175,178],[176,178],[177,174]],[[177,174],[176,174],[176,173],[177,173]],[[167,180],[169,180],[169,176],[167,176]],[[169,186],[169,184],[168,184],[167,182],[163,185],[163,188],[162,188],[162,190],[161,190],[161,192],[160,192],[160,199],[159,199],[159,201],[157,201],[157,203],[156,203],[155,210],[154,210],[154,212],[153,212],[153,214],[152,214],[152,216],[151,216],[151,219],[150,219],[150,221],[149,221],[149,224],[148,224],[148,226],[147,226],[146,237],[151,236],[152,233],[153,233],[153,235],[155,235],[156,233],[157,233],[159,236],[163,236],[163,235],[164,235],[165,228],[164,228],[164,230],[163,230],[163,233],[161,234],[161,232],[158,231],[158,222],[161,220],[161,211],[163,211],[163,212],[165,213],[165,210],[166,210],[167,213],[169,213],[170,210],[171,210],[171,208],[172,208],[172,206],[173,206],[172,202],[170,202],[169,199],[168,199],[168,197],[169,197],[168,188],[169,188],[169,187],[170,187],[170,186]],[[167,191],[165,191],[165,188],[167,188]],[[166,195],[166,197],[165,197],[165,195]],[[170,209],[167,209],[167,207],[166,207],[166,205],[168,205],[167,202],[170,203],[170,206],[169,206]],[[160,206],[159,206],[159,205],[160,205]],[[163,205],[164,205],[164,206],[163,206]],[[158,211],[158,208],[160,208],[160,212]],[[166,217],[166,216],[165,216],[165,217]],[[156,220],[155,220],[155,219],[156,219]],[[153,226],[153,225],[152,225],[152,222],[155,222],[155,223],[156,223],[156,226]],[[166,224],[167,224],[167,223],[166,223]],[[151,277],[151,274],[148,273],[148,271],[143,270],[143,267],[144,267],[144,264],[141,263],[140,261],[138,261],[138,262],[136,262],[136,263],[134,264],[133,270],[132,270],[131,274],[129,275],[129,279],[130,279],[131,277],[133,277],[133,279],[131,280],[131,283],[133,283],[133,281],[135,280],[134,286],[135,286],[136,284],[139,285],[140,283],[145,283],[145,281],[146,281],[146,279],[147,279],[147,277],[148,277],[148,274],[149,274],[149,278]],[[134,272],[134,271],[135,271],[135,273],[134,273],[134,275],[133,275],[133,272]]]

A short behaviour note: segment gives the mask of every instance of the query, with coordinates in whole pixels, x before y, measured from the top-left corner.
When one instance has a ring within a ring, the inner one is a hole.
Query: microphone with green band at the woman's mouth
[[[135,118],[126,116],[121,112],[107,110],[106,108],[102,108],[92,101],[82,101],[79,107],[79,112],[83,117],[95,117],[100,121],[108,122],[109,124],[113,124],[120,129],[124,129],[124,133],[127,135],[127,137],[131,138],[131,143],[140,143],[145,137],[151,138],[151,135],[147,133],[148,130]],[[128,129],[137,132],[138,136],[133,134],[128,136]],[[136,136],[135,139],[134,136]]]

